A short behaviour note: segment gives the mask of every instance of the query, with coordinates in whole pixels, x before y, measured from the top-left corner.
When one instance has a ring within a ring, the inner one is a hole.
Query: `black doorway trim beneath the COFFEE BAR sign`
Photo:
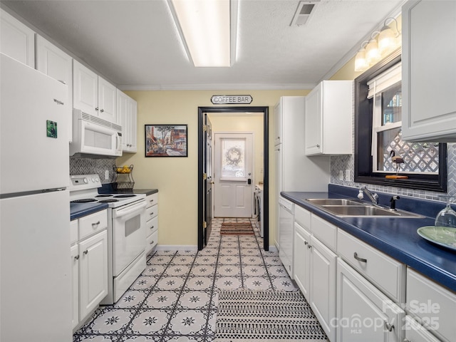
[[[262,113],[263,114],[263,248],[269,251],[269,107],[198,107],[198,250],[204,247],[204,113]]]

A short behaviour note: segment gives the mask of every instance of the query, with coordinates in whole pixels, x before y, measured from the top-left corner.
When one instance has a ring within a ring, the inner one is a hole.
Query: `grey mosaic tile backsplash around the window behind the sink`
[[[448,195],[456,196],[456,144],[447,144],[447,177]],[[362,183],[354,182],[355,172],[355,156],[354,155],[338,155],[331,157],[331,183],[337,185],[345,185],[347,187],[360,187]],[[344,180],[339,180],[339,171],[343,170]],[[350,180],[345,179],[345,170],[350,170]],[[387,192],[395,195],[405,195],[418,197],[422,199],[440,200],[439,196],[442,192],[432,192],[425,190],[406,189],[404,187],[386,187],[383,185],[368,185],[369,189],[379,192]]]

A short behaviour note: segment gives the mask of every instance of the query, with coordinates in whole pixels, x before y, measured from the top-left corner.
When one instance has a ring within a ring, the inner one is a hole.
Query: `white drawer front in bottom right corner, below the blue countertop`
[[[406,309],[443,341],[455,341],[456,294],[410,268]]]

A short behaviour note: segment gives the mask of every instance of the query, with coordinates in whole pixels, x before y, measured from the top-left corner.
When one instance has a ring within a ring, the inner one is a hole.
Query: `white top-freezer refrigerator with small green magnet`
[[[0,341],[69,342],[68,89],[0,55]]]

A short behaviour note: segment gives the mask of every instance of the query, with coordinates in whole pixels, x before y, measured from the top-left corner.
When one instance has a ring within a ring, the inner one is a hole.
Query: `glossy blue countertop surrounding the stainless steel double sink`
[[[380,195],[380,192],[377,192]],[[356,190],[356,194],[358,191]],[[456,291],[456,252],[427,242],[416,232],[419,227],[433,226],[434,218],[442,207],[432,208],[433,201],[407,199],[401,196],[398,209],[423,214],[421,206],[427,207],[426,216],[418,218],[381,217],[336,217],[317,206],[306,202],[306,198],[356,198],[334,192],[282,192],[281,195],[337,227],[352,234],[390,257],[407,264],[437,283]],[[392,194],[388,194],[388,198]],[[366,197],[365,197],[366,198]],[[385,196],[384,196],[385,198]],[[382,195],[380,195],[382,199]],[[402,202],[401,202],[402,201]],[[417,202],[418,201],[418,202]],[[380,203],[383,204],[380,200]],[[399,205],[401,203],[401,205]],[[439,205],[439,204],[437,204]],[[445,207],[444,204],[442,204]],[[411,208],[411,209],[410,209]],[[413,209],[415,208],[415,209]],[[418,208],[418,209],[416,209]],[[424,210],[424,209],[423,209]],[[435,212],[435,215],[433,214]]]

